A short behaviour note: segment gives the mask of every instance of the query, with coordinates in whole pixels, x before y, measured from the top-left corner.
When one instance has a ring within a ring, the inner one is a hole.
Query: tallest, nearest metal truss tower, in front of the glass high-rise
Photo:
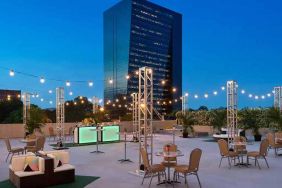
[[[139,68],[138,93],[139,166],[142,147],[147,150],[150,163],[153,163],[153,109],[153,70],[142,67]]]

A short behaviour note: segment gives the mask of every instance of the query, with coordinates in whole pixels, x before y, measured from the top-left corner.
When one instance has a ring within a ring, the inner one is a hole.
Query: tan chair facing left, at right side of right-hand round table
[[[266,160],[268,146],[269,146],[268,140],[267,139],[262,140],[260,143],[259,151],[251,151],[247,153],[247,163],[249,164],[249,159],[253,158],[255,160],[255,166],[258,164],[259,169],[261,169],[258,159],[262,158],[265,160],[265,163],[269,168],[268,162]]]

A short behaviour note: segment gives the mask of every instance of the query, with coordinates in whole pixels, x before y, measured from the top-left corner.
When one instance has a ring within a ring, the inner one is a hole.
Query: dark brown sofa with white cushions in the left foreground
[[[38,170],[25,172],[26,159],[38,161]],[[69,152],[39,152],[39,156],[27,154],[14,156],[9,167],[10,181],[17,188],[48,187],[75,181],[75,167],[69,164]],[[58,159],[61,161],[57,167]]]

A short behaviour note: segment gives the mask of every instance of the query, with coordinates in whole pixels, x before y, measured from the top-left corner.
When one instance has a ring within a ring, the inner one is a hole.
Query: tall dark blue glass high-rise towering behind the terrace
[[[124,112],[138,92],[136,71],[144,66],[153,68],[154,108],[160,114],[180,110],[182,15],[147,0],[122,0],[104,12],[108,110]]]

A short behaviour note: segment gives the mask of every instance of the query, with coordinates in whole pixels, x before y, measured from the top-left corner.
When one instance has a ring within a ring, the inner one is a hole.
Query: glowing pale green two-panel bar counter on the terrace
[[[74,129],[74,143],[97,143],[97,139],[99,143],[119,141],[119,131],[119,125],[77,126]]]

